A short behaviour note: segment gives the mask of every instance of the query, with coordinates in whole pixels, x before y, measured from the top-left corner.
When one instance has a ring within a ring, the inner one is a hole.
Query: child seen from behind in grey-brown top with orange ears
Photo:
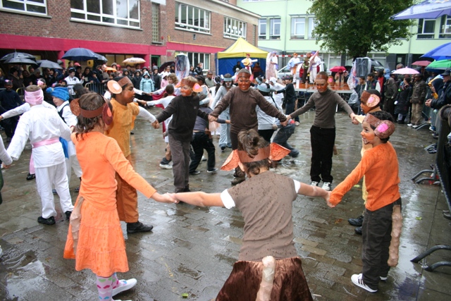
[[[239,165],[249,180],[221,193],[177,193],[175,198],[196,206],[237,207],[245,221],[239,261],[216,301],[256,300],[262,277],[261,260],[271,255],[276,259],[273,288],[264,300],[312,300],[293,239],[292,202],[297,195],[323,197],[329,192],[319,187],[269,171],[273,161],[290,152],[279,145],[271,146],[256,130],[242,130],[239,146],[221,169]],[[270,299],[271,297],[271,299]]]

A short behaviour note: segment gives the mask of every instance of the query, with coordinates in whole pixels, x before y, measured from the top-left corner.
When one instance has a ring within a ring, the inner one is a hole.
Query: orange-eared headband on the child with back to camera
[[[271,143],[267,147],[259,148],[259,153],[254,157],[249,156],[245,151],[239,151],[235,149],[226,159],[223,166],[221,166],[221,170],[223,171],[231,171],[234,168],[237,168],[238,162],[241,163],[249,163],[261,161],[264,159],[270,159],[271,161],[278,161],[282,159],[284,156],[290,154],[290,149],[286,149],[278,145],[277,143]]]

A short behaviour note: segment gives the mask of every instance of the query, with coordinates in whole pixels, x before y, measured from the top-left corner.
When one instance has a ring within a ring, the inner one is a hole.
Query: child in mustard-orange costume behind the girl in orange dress
[[[149,121],[152,121],[152,125],[158,127],[159,123],[155,121],[153,115],[144,109],[140,109],[140,106],[133,103],[135,91],[128,77],[118,77],[110,80],[108,89],[111,92],[111,106],[113,106],[114,114],[113,122],[105,130],[105,135],[118,142],[123,155],[131,162],[130,131],[133,128],[135,118],[137,116],[144,116],[142,114],[147,113],[147,115],[152,117],[147,118]],[[136,189],[129,185],[127,181],[123,180],[118,173],[116,173],[116,180],[118,181],[116,199],[118,202],[119,219],[127,223],[127,233],[152,231],[152,228],[154,228],[152,225],[144,225],[138,220],[138,197]]]

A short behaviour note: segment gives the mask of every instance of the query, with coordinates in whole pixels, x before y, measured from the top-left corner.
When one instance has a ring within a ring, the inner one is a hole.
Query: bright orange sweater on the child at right
[[[366,209],[375,211],[395,202],[400,198],[398,168],[397,155],[390,142],[366,150],[362,161],[332,191],[330,203],[338,204],[345,193],[359,183],[363,176],[368,191]]]

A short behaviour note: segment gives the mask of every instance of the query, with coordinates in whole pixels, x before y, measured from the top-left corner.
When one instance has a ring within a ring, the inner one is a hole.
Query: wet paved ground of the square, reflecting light
[[[156,113],[159,109],[150,109]],[[314,118],[310,111],[302,116],[301,125],[290,143],[300,155],[287,157],[276,172],[309,183],[309,128]],[[333,158],[333,186],[347,176],[360,159],[360,125],[338,113],[336,147]],[[164,154],[161,130],[145,121],[136,122],[131,137],[136,170],[159,192],[173,192],[172,171],[161,169]],[[230,154],[221,153],[216,145],[216,167]],[[410,262],[416,255],[438,244],[451,245],[450,221],[442,217],[447,209],[440,187],[410,180],[418,171],[428,169],[435,155],[424,147],[433,140],[427,128],[413,130],[399,125],[390,137],[400,161],[400,192],[403,206],[403,232],[400,263],[390,270],[387,282],[381,282],[378,293],[367,293],[352,284],[350,277],[362,269],[362,237],[354,234],[347,219],[357,217],[364,209],[362,190],[354,187],[337,207],[330,209],[321,199],[298,197],[293,204],[295,246],[302,257],[304,273],[314,300],[451,300],[451,267],[425,271],[423,262]],[[8,145],[6,143],[6,145]],[[75,271],[73,260],[63,259],[68,221],[63,219],[56,197],[56,225],[37,223],[41,206],[35,180],[27,181],[30,159],[27,145],[19,161],[3,170],[5,185],[1,191],[0,300],[97,300],[97,288],[91,271]],[[221,192],[230,187],[231,172],[201,173],[190,176],[190,188]],[[72,176],[70,190],[75,202],[78,179]],[[121,300],[211,300],[221,289],[237,260],[242,238],[242,217],[237,210],[199,208],[187,204],[159,204],[139,195],[140,221],[152,223],[147,234],[127,235],[130,271],[121,278],[137,278],[130,291],[117,295]],[[451,252],[438,251],[426,257],[426,263],[451,261]],[[187,294],[187,298],[183,298]]]

